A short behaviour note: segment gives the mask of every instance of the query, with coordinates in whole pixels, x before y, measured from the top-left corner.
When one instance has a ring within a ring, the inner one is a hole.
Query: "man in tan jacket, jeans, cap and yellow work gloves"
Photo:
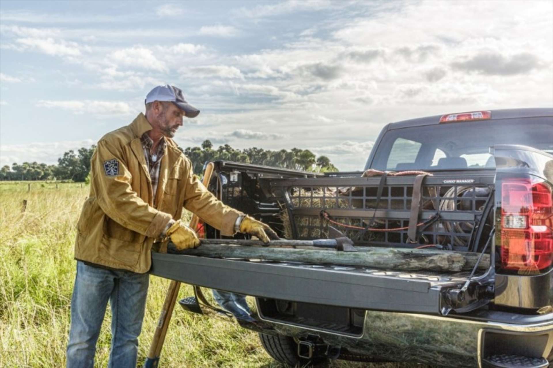
[[[278,239],[268,225],[217,200],[192,174],[190,160],[171,139],[182,117],[200,111],[174,86],[155,87],[146,113],[107,133],[91,158],[90,195],[77,222],[77,274],[71,299],[67,367],[93,367],[96,341],[109,300],[109,367],[135,367],[154,242],[165,251],[200,244],[181,220],[182,208],[231,236]]]

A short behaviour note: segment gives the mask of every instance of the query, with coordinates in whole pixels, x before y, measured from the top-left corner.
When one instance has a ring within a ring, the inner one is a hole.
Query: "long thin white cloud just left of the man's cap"
[[[77,115],[91,113],[100,116],[122,116],[131,115],[131,106],[127,102],[112,101],[92,101],[92,100],[68,100],[51,101],[40,100],[36,103],[38,107],[59,108],[61,110],[71,111]]]

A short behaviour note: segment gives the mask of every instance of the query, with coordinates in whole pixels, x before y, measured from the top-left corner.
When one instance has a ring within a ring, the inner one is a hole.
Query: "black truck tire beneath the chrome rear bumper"
[[[299,357],[298,344],[290,336],[259,333],[259,340],[261,340],[261,345],[263,345],[263,349],[267,351],[267,354],[287,366],[324,366],[328,362],[325,357],[314,357],[312,359]]]

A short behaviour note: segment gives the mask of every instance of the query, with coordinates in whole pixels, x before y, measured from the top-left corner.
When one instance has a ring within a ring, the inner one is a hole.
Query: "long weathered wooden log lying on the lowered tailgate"
[[[195,249],[178,251],[190,256],[211,258],[240,258],[246,260],[294,261],[343,266],[385,268],[398,271],[459,272],[474,268],[478,253],[436,251],[426,249],[357,247],[357,252],[298,249],[242,245],[204,244]],[[490,266],[489,255],[484,255],[478,269]]]

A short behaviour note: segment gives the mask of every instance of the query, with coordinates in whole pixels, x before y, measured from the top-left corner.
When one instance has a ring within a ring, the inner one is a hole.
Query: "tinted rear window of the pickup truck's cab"
[[[495,144],[521,144],[553,153],[553,119],[529,117],[392,128],[375,147],[371,168],[491,169],[495,161],[489,148]]]

